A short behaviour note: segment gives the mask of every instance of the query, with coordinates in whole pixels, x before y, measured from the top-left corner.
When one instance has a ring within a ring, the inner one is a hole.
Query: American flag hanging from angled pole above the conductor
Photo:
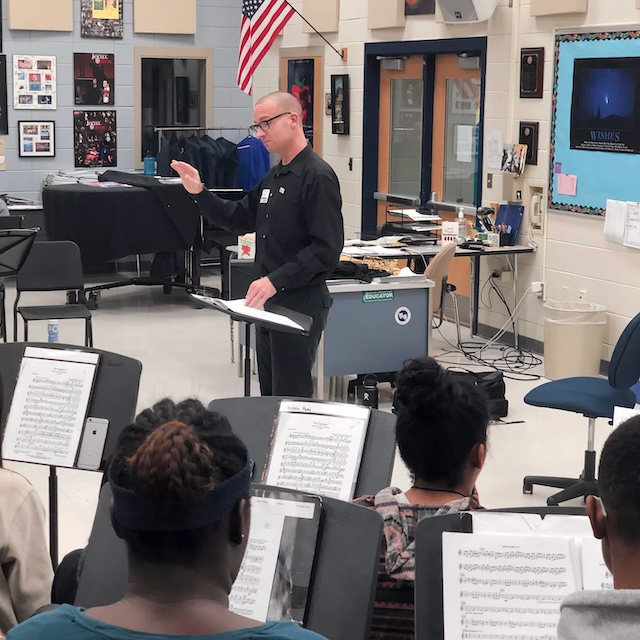
[[[251,95],[253,73],[295,13],[286,0],[242,0],[238,86]]]

